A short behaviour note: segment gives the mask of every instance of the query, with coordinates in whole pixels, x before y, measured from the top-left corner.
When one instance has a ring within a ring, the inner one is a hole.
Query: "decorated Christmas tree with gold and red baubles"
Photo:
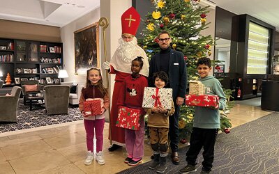
[[[211,35],[200,35],[200,31],[207,29],[206,15],[208,7],[200,7],[199,0],[154,0],[153,12],[146,15],[146,35],[140,45],[145,49],[149,58],[160,52],[158,34],[168,31],[172,35],[172,49],[183,52],[187,65],[188,80],[198,79],[197,59],[211,56]],[[214,62],[213,62],[214,63]],[[230,95],[227,93],[227,95]],[[181,106],[179,117],[180,138],[188,139],[193,127],[193,107]],[[229,120],[222,117],[223,129],[231,127]]]

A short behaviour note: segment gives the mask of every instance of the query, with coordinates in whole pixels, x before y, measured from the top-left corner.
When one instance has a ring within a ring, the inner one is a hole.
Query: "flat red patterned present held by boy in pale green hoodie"
[[[186,95],[186,105],[216,107],[219,103],[217,95]]]

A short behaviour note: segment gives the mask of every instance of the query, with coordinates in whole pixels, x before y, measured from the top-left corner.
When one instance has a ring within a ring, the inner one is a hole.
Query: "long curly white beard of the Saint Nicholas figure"
[[[119,38],[119,47],[117,48],[117,56],[122,58],[126,63],[131,63],[135,57],[135,48],[137,46],[137,38],[133,38],[130,42]]]

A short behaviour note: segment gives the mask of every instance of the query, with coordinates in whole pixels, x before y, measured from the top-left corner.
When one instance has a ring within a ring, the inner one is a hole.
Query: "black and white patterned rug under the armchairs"
[[[17,123],[0,122],[0,134],[3,132],[56,125],[63,122],[73,122],[82,119],[83,118],[78,107],[69,106],[68,115],[63,114],[47,116],[47,111],[43,107],[35,105],[33,106],[33,110],[29,111],[29,105],[24,105],[23,100],[20,100],[17,113]]]

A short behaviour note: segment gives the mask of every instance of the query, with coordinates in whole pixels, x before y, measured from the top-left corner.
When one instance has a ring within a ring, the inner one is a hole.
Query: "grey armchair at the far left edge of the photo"
[[[0,122],[17,122],[17,105],[22,88],[14,86],[10,96],[0,96]]]

